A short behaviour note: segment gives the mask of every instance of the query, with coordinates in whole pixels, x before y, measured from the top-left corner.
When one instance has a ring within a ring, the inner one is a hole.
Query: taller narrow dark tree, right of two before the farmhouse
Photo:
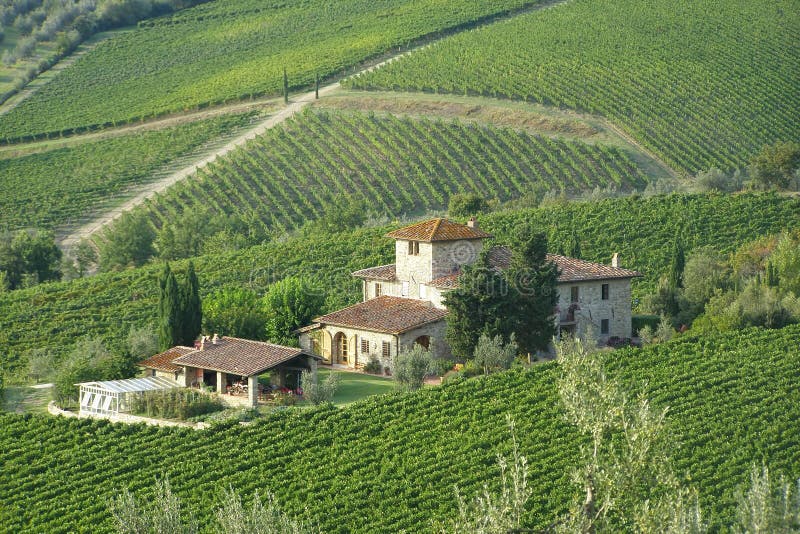
[[[547,260],[547,236],[530,225],[521,226],[505,274],[511,288],[505,321],[513,327],[519,351],[547,349],[556,334],[553,315],[558,301],[558,267]]]

